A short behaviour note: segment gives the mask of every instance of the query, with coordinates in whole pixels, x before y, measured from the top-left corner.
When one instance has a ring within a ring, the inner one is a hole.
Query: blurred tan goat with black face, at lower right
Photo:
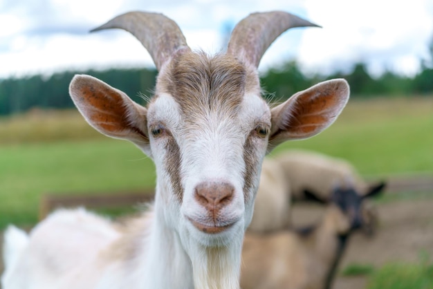
[[[359,196],[353,187],[339,187],[329,199],[322,221],[307,230],[270,234],[246,232],[243,241],[243,289],[329,289],[351,233],[362,218],[362,203],[380,191]],[[306,193],[308,194],[308,192]]]

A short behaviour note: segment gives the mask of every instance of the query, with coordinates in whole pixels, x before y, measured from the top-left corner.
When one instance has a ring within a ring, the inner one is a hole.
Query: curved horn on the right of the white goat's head
[[[234,27],[227,53],[257,67],[266,49],[279,35],[289,28],[304,26],[320,27],[287,12],[252,13]]]

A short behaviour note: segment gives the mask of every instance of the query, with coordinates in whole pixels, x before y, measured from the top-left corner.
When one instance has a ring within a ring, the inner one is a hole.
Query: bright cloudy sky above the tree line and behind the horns
[[[223,50],[234,24],[251,12],[284,10],[322,26],[288,30],[260,71],[296,59],[306,73],[349,71],[365,62],[380,75],[414,75],[429,59],[433,0],[0,0],[0,78],[64,70],[154,67],[123,30],[89,30],[131,10],[162,12],[189,46]]]

